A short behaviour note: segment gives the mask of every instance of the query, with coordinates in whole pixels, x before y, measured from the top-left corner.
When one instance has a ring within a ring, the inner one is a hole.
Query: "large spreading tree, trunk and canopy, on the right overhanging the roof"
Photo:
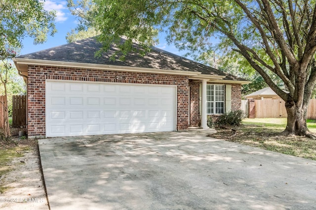
[[[195,55],[214,48],[241,55],[286,102],[286,131],[307,134],[306,110],[316,81],[315,0],[87,2],[93,18],[85,24],[100,31],[104,50],[113,42],[122,51],[132,50],[132,41],[149,45],[161,30],[168,42]],[[119,43],[122,36],[125,43]],[[283,89],[276,84],[280,80]]]

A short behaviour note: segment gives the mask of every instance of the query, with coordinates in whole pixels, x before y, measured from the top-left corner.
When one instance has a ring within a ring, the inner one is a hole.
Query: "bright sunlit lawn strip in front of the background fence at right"
[[[286,118],[246,118],[242,120],[243,125],[256,125],[266,128],[283,129],[286,126]],[[307,127],[316,133],[316,120],[307,120]]]

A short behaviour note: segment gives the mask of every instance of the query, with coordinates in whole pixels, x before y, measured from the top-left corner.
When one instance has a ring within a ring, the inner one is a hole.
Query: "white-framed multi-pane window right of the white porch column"
[[[206,89],[207,114],[224,114],[225,85],[207,84]]]

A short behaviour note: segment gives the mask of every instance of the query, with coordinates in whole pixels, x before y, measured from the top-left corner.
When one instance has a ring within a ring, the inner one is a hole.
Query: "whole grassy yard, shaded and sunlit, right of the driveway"
[[[307,125],[312,132],[316,132],[316,120],[308,120]],[[213,138],[240,144],[259,147],[316,160],[316,141],[305,137],[284,136],[281,132],[286,126],[286,119],[245,119],[236,130],[217,129]]]

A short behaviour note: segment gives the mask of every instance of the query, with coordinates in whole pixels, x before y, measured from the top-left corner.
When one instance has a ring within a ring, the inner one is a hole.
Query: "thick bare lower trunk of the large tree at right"
[[[307,105],[297,107],[293,101],[286,101],[287,125],[283,133],[289,135],[306,136],[316,139],[316,135],[307,128]]]

